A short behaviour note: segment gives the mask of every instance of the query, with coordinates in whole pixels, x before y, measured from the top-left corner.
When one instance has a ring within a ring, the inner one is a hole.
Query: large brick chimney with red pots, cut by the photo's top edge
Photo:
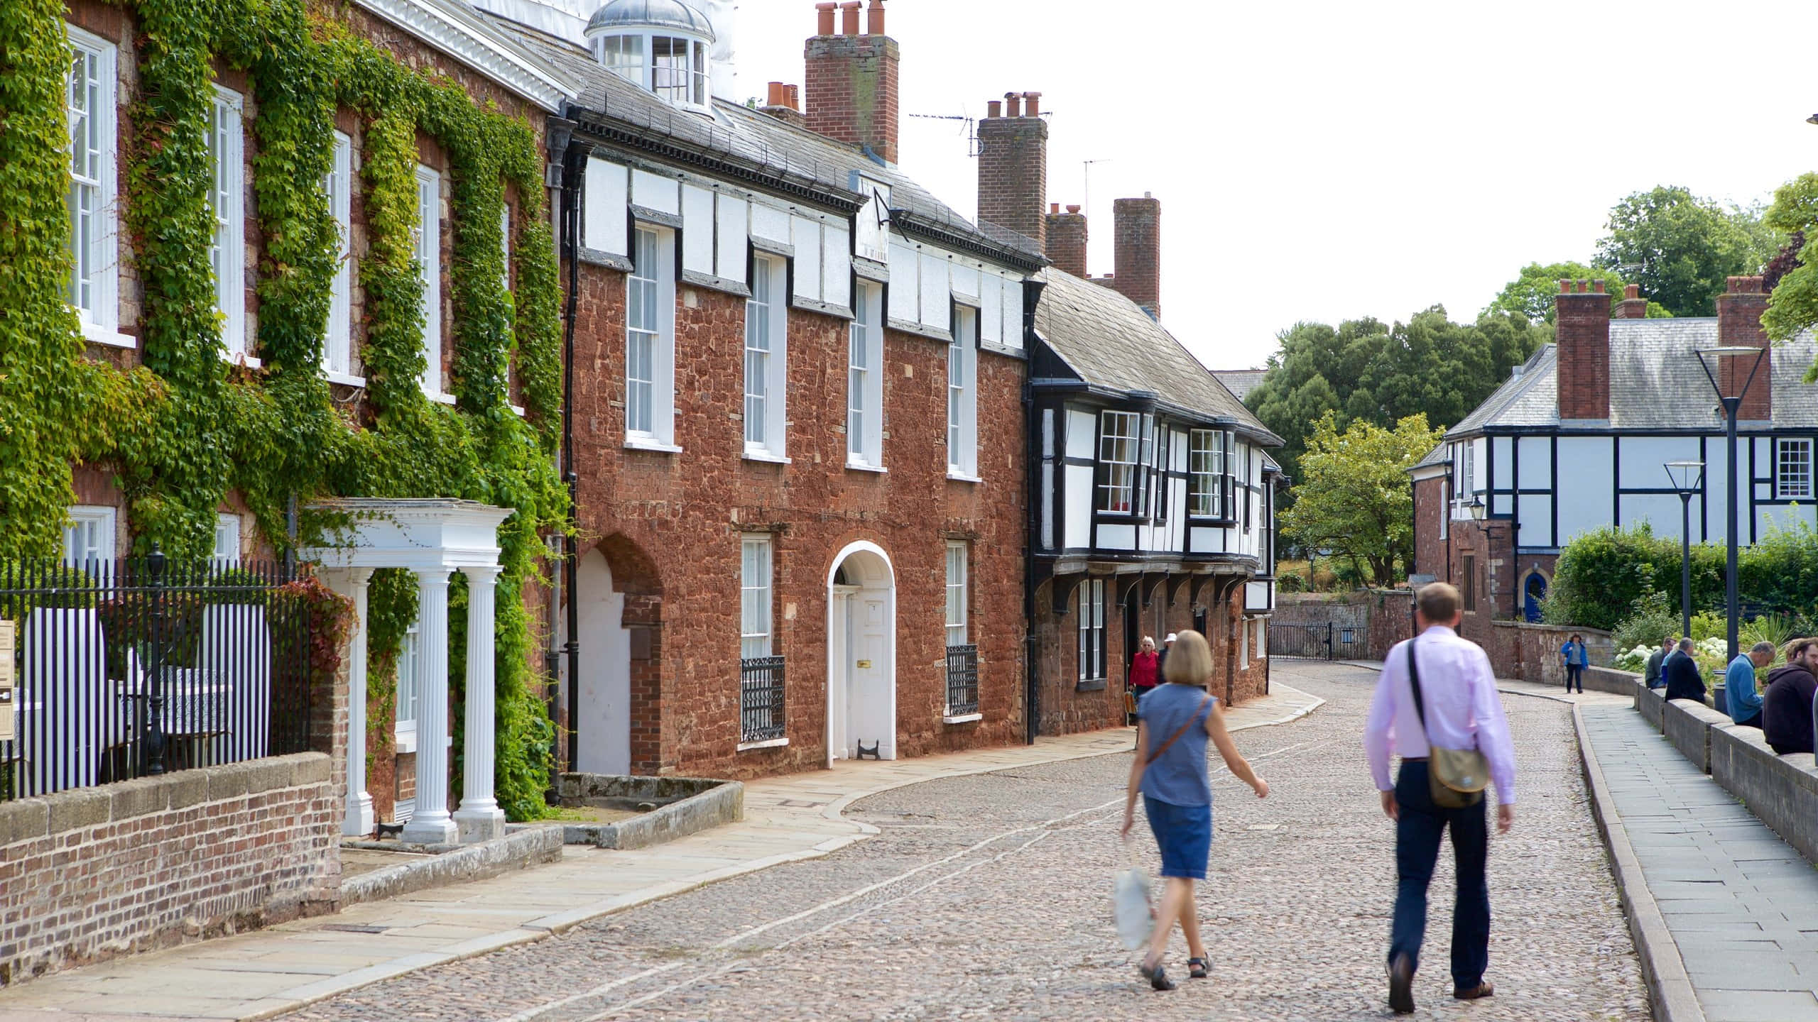
[[[807,127],[827,138],[865,145],[885,164],[898,156],[898,69],[902,49],[884,35],[884,0],[871,0],[858,35],[862,0],[814,4],[816,35],[807,40]],[[842,33],[833,31],[840,11]]]

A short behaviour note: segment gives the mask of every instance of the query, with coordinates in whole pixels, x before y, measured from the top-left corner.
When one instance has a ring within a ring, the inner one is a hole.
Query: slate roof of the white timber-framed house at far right
[[[1711,415],[1716,393],[1693,353],[1716,344],[1716,318],[1611,320],[1609,427],[1622,433],[1709,431],[1716,422]],[[1803,382],[1814,356],[1818,342],[1809,331],[1774,347],[1776,429],[1818,429],[1818,384]],[[1445,436],[1558,427],[1558,349],[1549,344]],[[1754,386],[1762,386],[1760,380]]]

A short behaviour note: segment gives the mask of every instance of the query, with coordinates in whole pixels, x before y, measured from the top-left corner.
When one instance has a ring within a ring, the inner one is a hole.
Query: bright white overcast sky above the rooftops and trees
[[[1474,318],[1527,262],[1589,260],[1609,207],[1682,184],[1767,200],[1818,169],[1818,4],[889,0],[902,165],[971,216],[960,124],[1040,91],[1049,202],[1162,200],[1162,322],[1214,369],[1296,320]],[[813,0],[740,0],[744,95],[802,82]]]

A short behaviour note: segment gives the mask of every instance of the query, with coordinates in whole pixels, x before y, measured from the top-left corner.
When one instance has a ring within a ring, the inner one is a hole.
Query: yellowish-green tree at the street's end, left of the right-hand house
[[[1282,511],[1282,535],[1331,549],[1353,566],[1369,566],[1376,582],[1398,576],[1414,553],[1414,489],[1407,469],[1445,435],[1409,415],[1383,429],[1353,422],[1344,433],[1325,413],[1300,458],[1294,504]]]

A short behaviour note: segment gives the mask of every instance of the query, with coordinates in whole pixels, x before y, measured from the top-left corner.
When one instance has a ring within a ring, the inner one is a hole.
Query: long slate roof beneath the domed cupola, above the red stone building
[[[914,218],[973,244],[1014,255],[1027,266],[1047,262],[1034,238],[994,224],[973,224],[902,171],[871,160],[856,145],[834,142],[767,113],[718,98],[713,102],[714,116],[709,120],[700,113],[671,105],[644,87],[613,75],[578,45],[504,18],[494,18],[494,24],[531,53],[569,75],[580,93],[574,105],[585,111],[642,133],[667,136],[700,153],[751,165],[778,180],[842,193],[853,202],[865,198],[851,191],[851,173],[862,171],[891,185],[893,209],[907,211]]]

